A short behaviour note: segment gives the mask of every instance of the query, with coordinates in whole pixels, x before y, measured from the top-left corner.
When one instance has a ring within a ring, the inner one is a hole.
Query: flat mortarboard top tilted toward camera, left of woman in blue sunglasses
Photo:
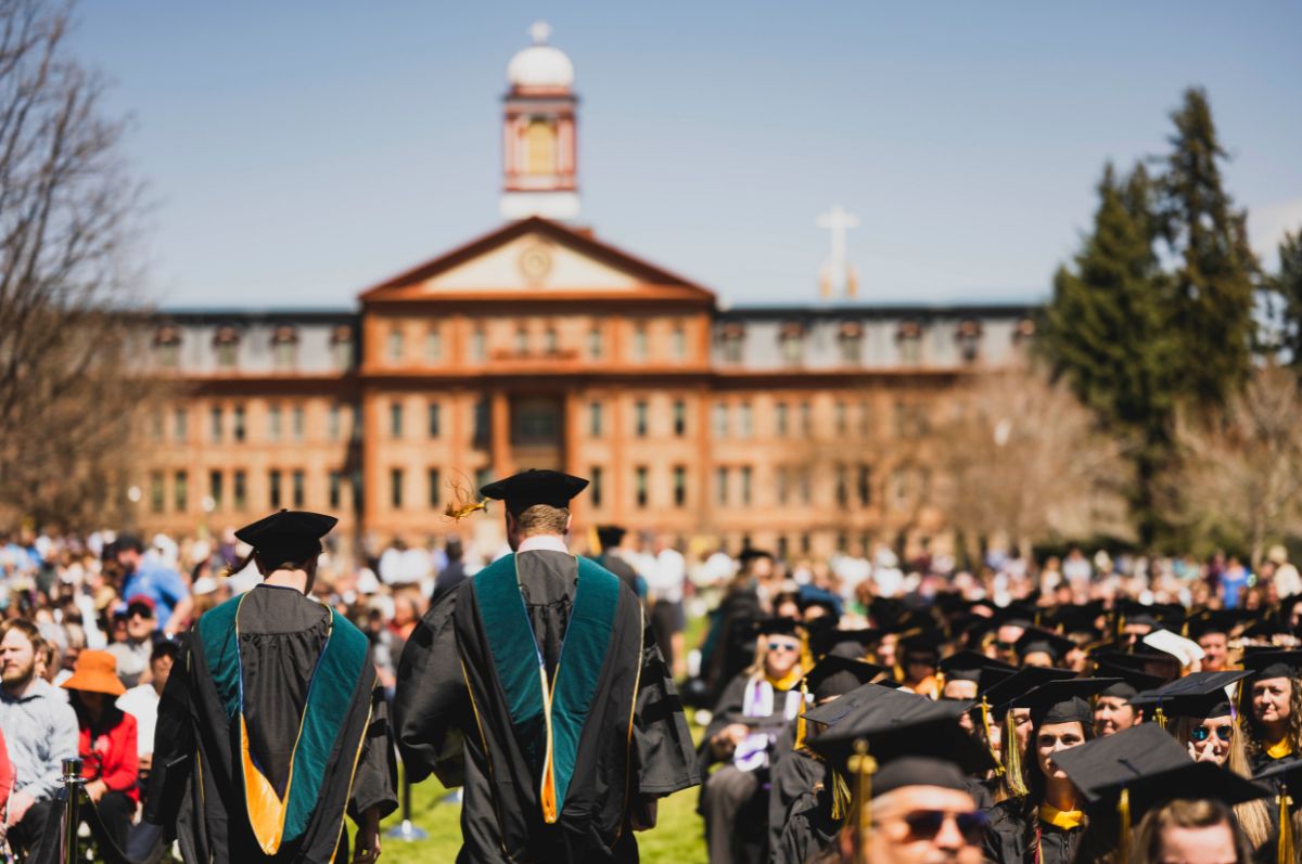
[[[1109,798],[1109,791],[1120,792],[1143,777],[1193,760],[1170,733],[1156,723],[1139,723],[1053,753],[1053,761],[1086,803],[1094,804]]]

